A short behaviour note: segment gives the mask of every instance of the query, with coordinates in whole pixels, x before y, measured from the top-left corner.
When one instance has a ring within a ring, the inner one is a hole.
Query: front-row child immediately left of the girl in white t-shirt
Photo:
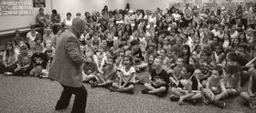
[[[91,84],[91,87],[110,87],[116,77],[117,67],[114,64],[114,59],[109,56],[106,62],[106,67],[102,68],[102,73],[98,73],[96,78],[98,82]]]

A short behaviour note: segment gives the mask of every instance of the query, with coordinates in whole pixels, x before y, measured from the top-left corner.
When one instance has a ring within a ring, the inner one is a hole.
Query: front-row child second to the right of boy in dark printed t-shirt
[[[202,91],[206,98],[205,103],[208,104],[210,102],[219,108],[225,108],[226,105],[225,102],[219,100],[228,97],[222,74],[222,67],[216,66],[213,68],[211,77],[208,77],[207,87]]]

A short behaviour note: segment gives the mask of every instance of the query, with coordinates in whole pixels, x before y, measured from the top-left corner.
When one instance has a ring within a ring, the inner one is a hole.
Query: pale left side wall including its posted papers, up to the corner
[[[51,14],[51,0],[45,0],[44,14]],[[0,35],[16,29],[27,29],[36,24],[40,7],[33,7],[33,0],[0,0]]]

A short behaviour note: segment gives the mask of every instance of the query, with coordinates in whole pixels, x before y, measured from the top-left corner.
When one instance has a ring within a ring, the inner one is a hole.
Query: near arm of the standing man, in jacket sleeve
[[[65,48],[66,51],[69,54],[69,57],[78,65],[81,66],[84,62],[85,59],[83,56],[80,54],[80,49],[79,49],[79,42],[76,39],[76,37],[69,37],[66,39],[65,43]]]

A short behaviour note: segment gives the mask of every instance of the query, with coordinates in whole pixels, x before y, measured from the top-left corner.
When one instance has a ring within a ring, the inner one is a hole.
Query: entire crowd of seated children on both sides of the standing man
[[[121,14],[105,6],[97,15],[86,12],[87,25],[79,37],[81,55],[87,60],[82,65],[83,82],[129,94],[143,85],[143,94],[170,94],[170,100],[181,105],[204,102],[225,108],[223,99],[239,95],[243,105],[253,104],[255,23],[224,12],[209,14],[197,6],[189,13],[193,19],[186,20],[179,8],[146,14],[127,9]],[[25,39],[16,32],[15,40],[5,45],[0,72],[48,77],[62,32],[58,25],[46,27],[44,34],[31,26]]]

